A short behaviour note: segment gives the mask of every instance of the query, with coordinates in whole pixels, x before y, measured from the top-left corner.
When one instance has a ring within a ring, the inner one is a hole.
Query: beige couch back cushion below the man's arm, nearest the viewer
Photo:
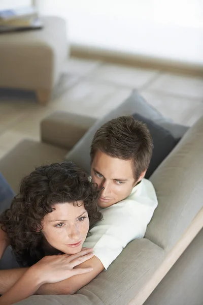
[[[150,240],[135,239],[107,271],[102,271],[76,294],[33,295],[18,305],[141,305],[151,293],[150,287],[149,291],[143,289],[148,286],[164,257],[164,250]],[[145,294],[140,298],[142,292]]]

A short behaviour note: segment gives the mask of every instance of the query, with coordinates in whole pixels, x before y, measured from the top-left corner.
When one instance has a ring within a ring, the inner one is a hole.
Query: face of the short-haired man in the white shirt
[[[98,188],[104,188],[98,200],[101,208],[109,207],[125,199],[136,185],[131,160],[112,158],[97,150],[92,165],[91,176]]]

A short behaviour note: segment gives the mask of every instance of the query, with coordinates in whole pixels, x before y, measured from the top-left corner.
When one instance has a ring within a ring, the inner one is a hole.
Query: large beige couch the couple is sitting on
[[[0,161],[0,171],[17,192],[24,174],[63,160],[93,123],[79,115],[51,115],[41,125],[42,142],[18,144]],[[159,204],[145,238],[130,242],[107,271],[77,294],[31,296],[19,304],[201,305],[202,156],[203,117],[150,178]]]

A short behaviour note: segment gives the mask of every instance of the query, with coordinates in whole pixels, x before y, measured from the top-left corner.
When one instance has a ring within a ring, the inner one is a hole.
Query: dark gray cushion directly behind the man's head
[[[153,174],[159,164],[165,159],[165,157],[171,153],[176,144],[180,141],[180,138],[176,139],[170,131],[163,128],[159,124],[156,124],[153,120],[148,119],[138,113],[132,115],[134,119],[145,123],[150,131],[153,140],[153,153],[152,158],[145,174],[145,178]]]

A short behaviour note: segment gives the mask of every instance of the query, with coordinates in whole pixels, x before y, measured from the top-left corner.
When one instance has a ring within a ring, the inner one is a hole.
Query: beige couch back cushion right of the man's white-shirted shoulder
[[[155,170],[158,207],[146,238],[169,251],[203,206],[203,117]]]

